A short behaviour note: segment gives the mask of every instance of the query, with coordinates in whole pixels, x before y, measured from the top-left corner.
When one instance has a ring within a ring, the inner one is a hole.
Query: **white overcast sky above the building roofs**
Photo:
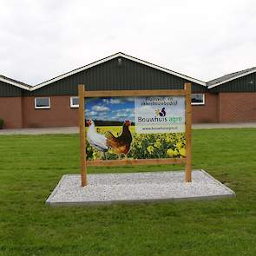
[[[254,0],[0,0],[0,74],[31,85],[116,52],[208,81],[256,66]]]

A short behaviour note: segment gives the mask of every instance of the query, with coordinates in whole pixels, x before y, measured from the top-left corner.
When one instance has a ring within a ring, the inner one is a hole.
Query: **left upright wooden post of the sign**
[[[85,135],[85,115],[84,115],[84,85],[78,86],[79,95],[79,128],[80,128],[80,166],[82,187],[87,185],[87,167],[86,167],[86,135]]]

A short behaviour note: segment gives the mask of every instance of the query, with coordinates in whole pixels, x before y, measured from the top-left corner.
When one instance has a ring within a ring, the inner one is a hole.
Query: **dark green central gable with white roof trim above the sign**
[[[77,85],[89,90],[181,89],[193,82],[194,91],[205,91],[205,82],[143,62],[121,53],[37,85],[27,95],[77,95]]]

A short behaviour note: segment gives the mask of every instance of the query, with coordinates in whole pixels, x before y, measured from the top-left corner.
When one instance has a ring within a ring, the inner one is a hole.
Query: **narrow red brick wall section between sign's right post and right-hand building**
[[[219,122],[219,97],[217,94],[205,94],[205,105],[192,106],[192,121]]]

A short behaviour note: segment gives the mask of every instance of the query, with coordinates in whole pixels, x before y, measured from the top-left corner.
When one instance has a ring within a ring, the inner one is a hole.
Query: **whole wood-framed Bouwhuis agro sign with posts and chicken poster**
[[[86,91],[80,85],[82,186],[89,166],[185,163],[191,181],[190,99],[190,84],[136,91]]]

